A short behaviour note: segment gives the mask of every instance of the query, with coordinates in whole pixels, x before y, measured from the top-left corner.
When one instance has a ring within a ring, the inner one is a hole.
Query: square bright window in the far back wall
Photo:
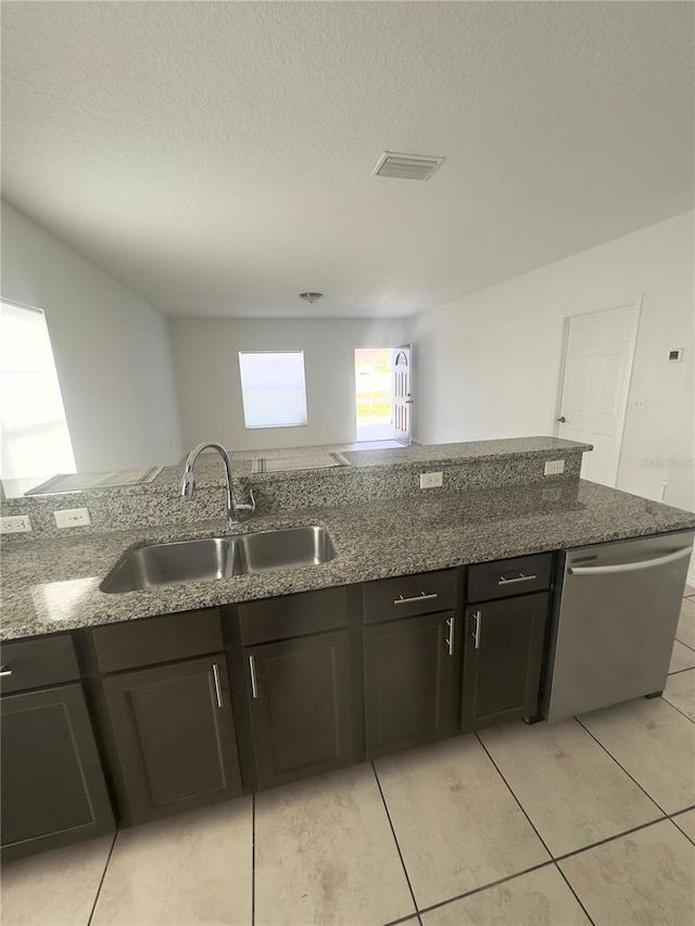
[[[306,424],[304,353],[239,352],[243,420],[247,428]]]

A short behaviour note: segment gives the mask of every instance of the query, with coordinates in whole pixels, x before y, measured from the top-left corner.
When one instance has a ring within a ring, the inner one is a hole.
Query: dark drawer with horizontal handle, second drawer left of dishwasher
[[[397,618],[412,618],[456,607],[457,571],[420,572],[366,582],[364,591],[364,621],[377,624]]]

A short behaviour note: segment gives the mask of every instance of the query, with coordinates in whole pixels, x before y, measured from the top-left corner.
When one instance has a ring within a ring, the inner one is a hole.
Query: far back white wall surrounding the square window
[[[170,319],[185,445],[215,440],[248,451],[354,441],[354,348],[402,344],[404,329],[402,319]],[[308,424],[244,428],[239,351],[304,351]]]

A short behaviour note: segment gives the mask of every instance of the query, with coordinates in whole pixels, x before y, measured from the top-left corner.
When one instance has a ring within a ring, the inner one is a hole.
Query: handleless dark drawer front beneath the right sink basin
[[[270,643],[291,636],[344,627],[348,624],[348,589],[321,588],[282,598],[266,598],[239,605],[239,629],[243,646]]]

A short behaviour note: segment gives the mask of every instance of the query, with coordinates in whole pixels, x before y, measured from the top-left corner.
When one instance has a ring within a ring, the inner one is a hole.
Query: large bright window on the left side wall
[[[75,472],[46,316],[0,302],[0,475]]]

